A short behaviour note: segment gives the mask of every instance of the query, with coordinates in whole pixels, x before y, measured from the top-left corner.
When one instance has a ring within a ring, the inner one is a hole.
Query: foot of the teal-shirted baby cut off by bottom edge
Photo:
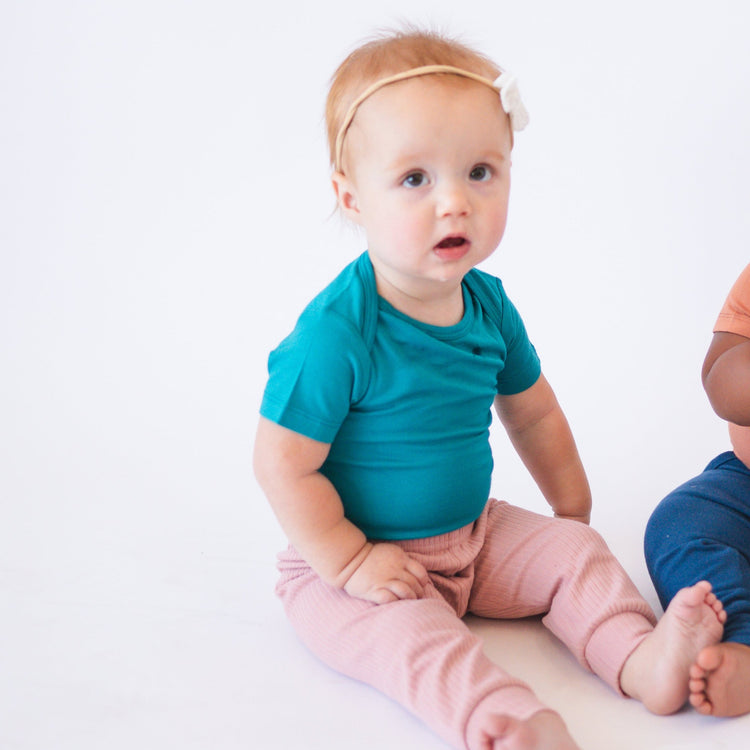
[[[483,750],[580,750],[554,711],[540,711],[525,721],[488,716],[482,733]]]

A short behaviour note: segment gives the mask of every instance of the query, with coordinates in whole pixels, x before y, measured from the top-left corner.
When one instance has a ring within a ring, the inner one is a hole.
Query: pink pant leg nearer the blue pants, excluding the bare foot
[[[497,618],[544,614],[579,662],[619,691],[622,665],[656,617],[601,536],[576,521],[495,502],[486,539],[470,610]]]

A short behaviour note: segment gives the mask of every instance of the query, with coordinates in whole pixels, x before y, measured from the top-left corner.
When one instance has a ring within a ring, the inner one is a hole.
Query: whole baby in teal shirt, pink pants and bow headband
[[[521,317],[475,268],[502,239],[514,79],[408,31],[353,52],[327,102],[333,188],[367,251],[269,358],[255,472],[290,541],[277,591],[324,662],[457,748],[577,745],[462,617],[544,615],[580,663],[677,711],[722,635],[706,582],[663,619],[589,526],[575,442]],[[491,408],[556,518],[488,500]]]

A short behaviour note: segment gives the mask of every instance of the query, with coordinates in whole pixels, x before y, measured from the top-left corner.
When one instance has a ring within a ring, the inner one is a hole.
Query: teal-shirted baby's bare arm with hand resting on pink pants
[[[319,469],[330,446],[261,417],[254,468],[281,527],[324,580],[376,604],[424,595],[427,572],[395,544],[373,544],[344,516]]]

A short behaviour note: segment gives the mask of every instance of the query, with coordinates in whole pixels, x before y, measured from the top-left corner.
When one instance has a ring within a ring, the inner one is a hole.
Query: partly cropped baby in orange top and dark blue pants
[[[723,642],[690,668],[690,703],[704,714],[750,712],[750,266],[735,282],[703,364],[733,451],[670,493],[646,527],[646,562],[667,606],[683,586],[708,578],[726,605]]]

